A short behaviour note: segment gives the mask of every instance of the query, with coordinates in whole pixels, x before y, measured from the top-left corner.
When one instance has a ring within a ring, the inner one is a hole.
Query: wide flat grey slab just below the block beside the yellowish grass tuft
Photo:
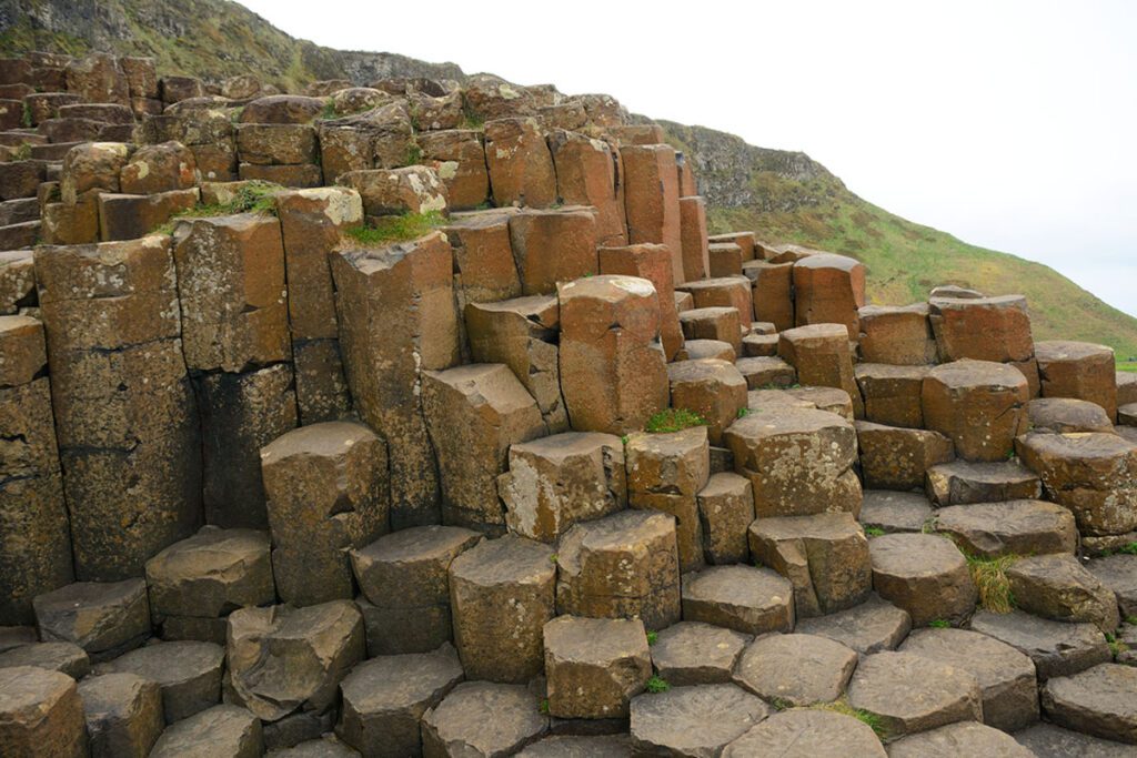
[[[1012,611],[980,610],[971,628],[1005,642],[1035,661],[1038,678],[1069,676],[1112,658],[1102,632],[1093,624],[1068,624]]]

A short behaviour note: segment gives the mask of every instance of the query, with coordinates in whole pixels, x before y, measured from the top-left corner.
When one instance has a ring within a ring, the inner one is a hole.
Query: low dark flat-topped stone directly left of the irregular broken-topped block
[[[213,642],[163,642],[116,658],[113,670],[157,682],[166,723],[188,718],[221,702],[225,650]]]

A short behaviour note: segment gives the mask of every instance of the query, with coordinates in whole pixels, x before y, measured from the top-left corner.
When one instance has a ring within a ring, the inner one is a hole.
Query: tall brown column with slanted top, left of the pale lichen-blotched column
[[[425,372],[423,414],[438,457],[442,519],[503,534],[497,478],[509,445],[546,433],[532,395],[504,364]]]

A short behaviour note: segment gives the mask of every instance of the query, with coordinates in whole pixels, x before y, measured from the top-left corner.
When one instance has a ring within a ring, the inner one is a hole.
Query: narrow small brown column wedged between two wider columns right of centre
[[[698,507],[707,563],[747,563],[750,548],[746,531],[754,520],[750,481],[729,472],[712,474],[699,490]]]

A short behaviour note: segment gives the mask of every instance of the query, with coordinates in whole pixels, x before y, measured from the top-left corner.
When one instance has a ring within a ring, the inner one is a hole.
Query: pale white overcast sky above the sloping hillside
[[[803,150],[887,210],[1137,315],[1137,2],[242,2],[319,44]]]

